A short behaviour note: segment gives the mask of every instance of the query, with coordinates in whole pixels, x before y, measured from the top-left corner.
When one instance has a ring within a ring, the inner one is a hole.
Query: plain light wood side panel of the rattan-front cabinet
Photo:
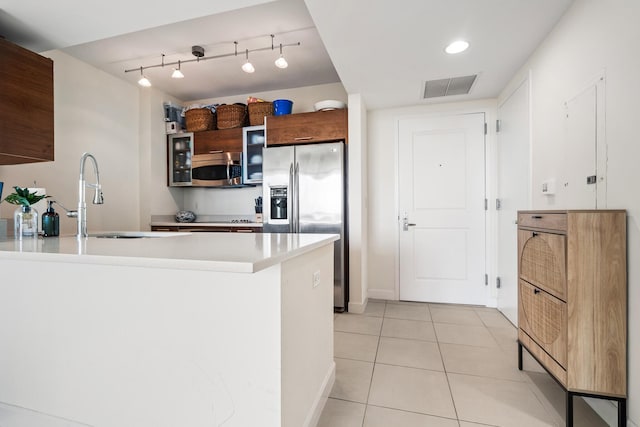
[[[584,230],[594,230],[585,233]],[[568,381],[578,390],[627,390],[625,216],[570,215],[568,221]],[[593,368],[593,369],[591,369]]]

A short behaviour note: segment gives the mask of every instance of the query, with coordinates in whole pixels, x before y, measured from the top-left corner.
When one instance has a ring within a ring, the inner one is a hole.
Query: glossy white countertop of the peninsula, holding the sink
[[[253,273],[339,239],[337,234],[162,233],[138,239],[0,241],[0,259]],[[160,237],[162,236],[162,237]]]

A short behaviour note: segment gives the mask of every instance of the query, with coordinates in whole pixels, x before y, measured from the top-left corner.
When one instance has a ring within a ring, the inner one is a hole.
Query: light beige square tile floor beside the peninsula
[[[564,393],[497,310],[370,300],[336,314],[336,382],[319,427],[564,426]],[[607,424],[575,398],[574,424]]]

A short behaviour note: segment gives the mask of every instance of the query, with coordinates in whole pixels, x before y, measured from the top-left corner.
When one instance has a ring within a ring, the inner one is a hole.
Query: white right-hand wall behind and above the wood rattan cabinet
[[[606,206],[628,215],[628,392],[629,419],[640,425],[640,2],[577,0],[554,31],[512,79],[501,97],[531,70],[532,189],[549,177],[561,177],[565,160],[564,102],[604,74],[607,144]],[[631,43],[631,44],[630,44]],[[586,148],[585,148],[586,149]],[[562,209],[570,196],[559,186],[555,198],[533,191],[535,209]],[[600,406],[599,406],[600,407]],[[600,410],[605,417],[612,412]],[[613,412],[615,415],[615,412]]]

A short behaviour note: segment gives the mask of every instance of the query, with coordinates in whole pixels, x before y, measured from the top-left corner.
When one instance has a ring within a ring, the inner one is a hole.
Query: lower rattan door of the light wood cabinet
[[[567,304],[520,280],[520,329],[567,368]]]

